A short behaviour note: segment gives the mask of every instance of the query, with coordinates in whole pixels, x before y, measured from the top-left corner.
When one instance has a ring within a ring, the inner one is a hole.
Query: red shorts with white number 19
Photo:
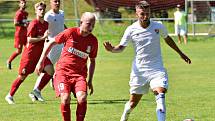
[[[56,96],[61,93],[73,93],[74,96],[78,91],[87,92],[87,81],[84,76],[67,76],[65,74],[55,73],[54,88]]]

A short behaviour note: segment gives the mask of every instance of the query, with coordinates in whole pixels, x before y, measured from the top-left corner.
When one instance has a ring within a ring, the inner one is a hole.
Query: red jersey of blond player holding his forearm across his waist
[[[48,29],[48,22],[44,21],[41,23],[39,20],[34,19],[28,26],[28,37],[43,36],[45,31]],[[21,58],[20,63],[37,63],[43,51],[45,41],[39,41],[35,43],[27,43]]]

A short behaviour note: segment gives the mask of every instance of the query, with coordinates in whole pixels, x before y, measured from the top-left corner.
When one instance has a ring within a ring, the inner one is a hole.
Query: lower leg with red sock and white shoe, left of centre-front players
[[[22,82],[25,80],[25,78],[27,77],[27,75],[18,75],[18,77],[13,81],[10,91],[8,93],[8,95],[5,97],[5,100],[9,103],[9,104],[14,104],[14,100],[13,100],[13,96],[16,93],[16,91],[18,90],[19,86],[22,84]]]

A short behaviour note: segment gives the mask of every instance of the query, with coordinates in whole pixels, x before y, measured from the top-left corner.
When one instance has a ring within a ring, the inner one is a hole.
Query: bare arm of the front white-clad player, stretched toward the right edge
[[[191,64],[191,60],[178,48],[178,46],[175,44],[175,42],[170,36],[167,36],[166,38],[164,38],[164,40],[172,49],[174,49],[181,56],[181,58],[185,62]]]

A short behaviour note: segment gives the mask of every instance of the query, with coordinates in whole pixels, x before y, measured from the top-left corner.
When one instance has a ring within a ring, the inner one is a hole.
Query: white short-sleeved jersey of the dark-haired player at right
[[[142,76],[153,71],[165,71],[161,57],[160,36],[166,38],[168,32],[164,25],[150,21],[147,28],[140,26],[139,21],[130,25],[120,42],[127,46],[131,41],[135,49],[131,76]]]

